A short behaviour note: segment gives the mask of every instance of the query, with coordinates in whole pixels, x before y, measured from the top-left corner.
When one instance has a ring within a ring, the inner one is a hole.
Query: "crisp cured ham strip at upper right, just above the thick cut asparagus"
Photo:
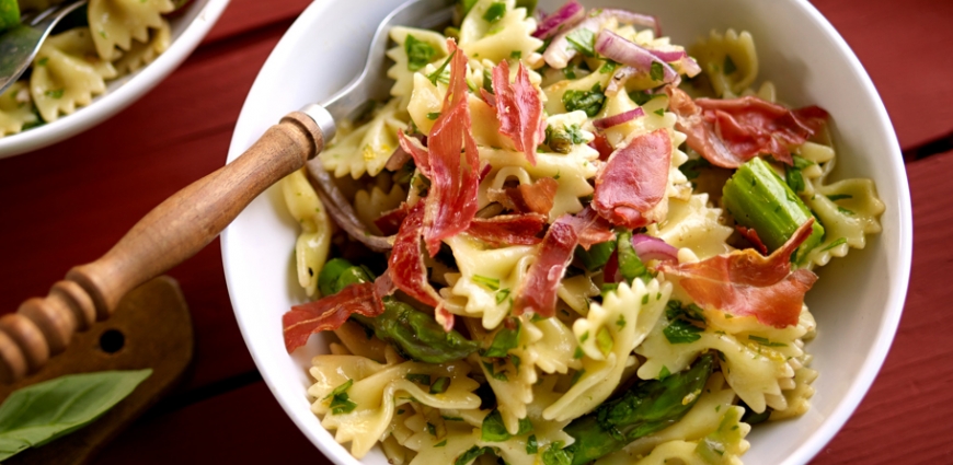
[[[827,124],[827,112],[818,106],[789,109],[755,96],[692,101],[673,86],[666,92],[688,146],[721,167],[736,168],[759,153],[790,165],[788,147],[804,143]]]

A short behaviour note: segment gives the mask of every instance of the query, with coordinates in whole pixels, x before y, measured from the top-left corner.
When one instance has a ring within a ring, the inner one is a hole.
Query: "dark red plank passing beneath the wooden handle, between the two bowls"
[[[244,96],[286,25],[199,49],[153,92],[71,140],[0,160],[0,313],[46,295],[149,210],[225,163]],[[185,388],[254,369],[225,286],[218,242],[171,275],[192,310]]]

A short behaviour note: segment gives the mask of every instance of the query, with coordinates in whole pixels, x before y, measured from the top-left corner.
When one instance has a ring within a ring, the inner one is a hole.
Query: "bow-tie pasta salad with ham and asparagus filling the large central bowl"
[[[804,295],[880,232],[873,183],[828,179],[827,112],[778,103],[747,32],[459,7],[392,28],[391,98],[283,181],[286,348],[336,336],[312,411],[394,464],[740,463],[810,409]]]

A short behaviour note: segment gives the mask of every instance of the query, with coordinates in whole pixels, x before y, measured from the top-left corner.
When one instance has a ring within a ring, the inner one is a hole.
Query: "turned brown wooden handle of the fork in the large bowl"
[[[259,194],[323,148],[311,117],[287,115],[232,163],[165,199],[100,259],[69,270],[46,298],[0,317],[0,382],[38,370],[77,330],[107,318],[126,292],[195,255]]]

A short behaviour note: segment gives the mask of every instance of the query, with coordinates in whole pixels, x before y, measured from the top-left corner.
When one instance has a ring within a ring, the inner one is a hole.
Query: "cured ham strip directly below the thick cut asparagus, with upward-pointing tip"
[[[796,325],[807,292],[817,276],[806,269],[791,272],[791,254],[813,232],[810,219],[771,255],[751,248],[702,261],[668,265],[659,270],[681,277],[681,287],[704,309],[735,316],[754,315],[777,328]]]

